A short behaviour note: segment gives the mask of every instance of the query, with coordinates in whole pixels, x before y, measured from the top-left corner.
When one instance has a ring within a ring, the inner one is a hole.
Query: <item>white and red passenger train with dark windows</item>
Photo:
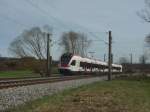
[[[60,57],[58,69],[60,74],[63,75],[100,74],[108,72],[108,63],[72,53],[64,53]],[[112,64],[112,72],[121,73],[122,65]]]

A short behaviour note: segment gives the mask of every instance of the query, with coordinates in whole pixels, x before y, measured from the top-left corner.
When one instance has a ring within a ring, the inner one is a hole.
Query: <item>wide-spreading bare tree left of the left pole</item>
[[[47,38],[39,27],[25,30],[17,37],[9,47],[11,53],[17,57],[46,58]]]

